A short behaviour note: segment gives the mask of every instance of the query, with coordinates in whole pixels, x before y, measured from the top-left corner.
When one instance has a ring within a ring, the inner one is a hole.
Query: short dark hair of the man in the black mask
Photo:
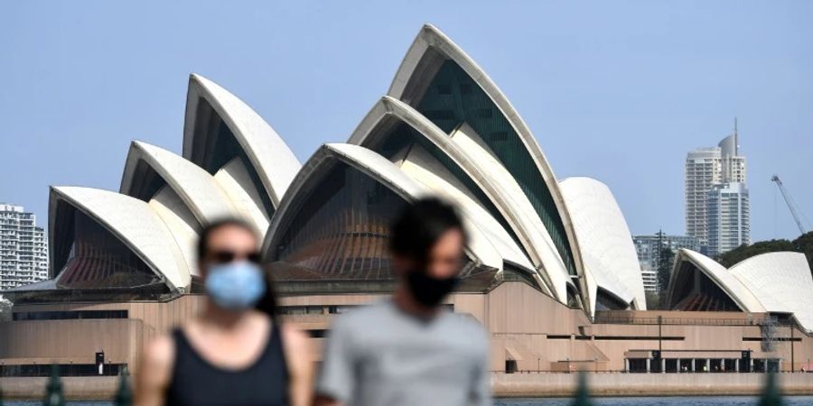
[[[463,233],[465,245],[467,235],[457,210],[439,198],[422,198],[407,205],[390,226],[389,249],[423,265],[441,235],[455,228]]]

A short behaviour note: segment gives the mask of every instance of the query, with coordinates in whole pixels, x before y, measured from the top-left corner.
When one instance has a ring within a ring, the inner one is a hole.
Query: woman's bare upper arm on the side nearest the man
[[[290,382],[288,393],[292,406],[310,406],[313,399],[313,351],[309,338],[294,326],[283,323],[285,362]]]

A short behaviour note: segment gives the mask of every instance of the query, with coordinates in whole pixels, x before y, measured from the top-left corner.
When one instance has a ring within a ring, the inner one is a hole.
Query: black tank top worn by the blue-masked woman
[[[288,369],[279,326],[254,364],[231,371],[212,365],[195,351],[180,328],[173,331],[175,363],[167,405],[288,404]]]

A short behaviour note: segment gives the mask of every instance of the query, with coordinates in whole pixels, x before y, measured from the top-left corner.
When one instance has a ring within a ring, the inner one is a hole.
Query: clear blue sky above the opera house
[[[556,176],[607,183],[634,234],[682,234],[686,152],[739,117],[754,240],[813,219],[813,2],[37,2],[0,5],[0,201],[117,189],[130,140],[181,151],[189,73],[301,161],[345,141],[423,23],[460,44]],[[813,225],[810,225],[813,226]]]

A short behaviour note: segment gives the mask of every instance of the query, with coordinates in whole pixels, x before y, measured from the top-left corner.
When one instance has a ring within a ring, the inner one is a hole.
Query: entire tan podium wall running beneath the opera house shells
[[[329,306],[361,305],[383,300],[380,294],[334,294],[285,297],[283,306],[321,306],[323,314],[287,316],[300,328],[330,328]],[[782,370],[790,370],[790,341],[777,341],[771,353],[762,351],[758,326],[748,320],[760,315],[731,312],[633,311],[613,313],[629,321],[657,316],[694,320],[689,324],[593,324],[579,309],[568,309],[547,295],[519,281],[507,281],[487,294],[458,293],[448,302],[456,312],[471,315],[491,332],[491,371],[504,372],[506,360],[522,371],[621,371],[625,358],[647,357],[663,350],[664,358],[735,358],[741,350],[752,350],[752,358],[780,358]],[[205,303],[199,295],[186,295],[169,302],[61,303],[24,305],[20,311],[127,309],[129,319],[33,320],[0,323],[0,363],[86,364],[104,350],[110,362],[126,363],[137,374],[136,360],[145,343],[183,320],[194,317]],[[724,318],[731,325],[713,325]],[[739,320],[739,321],[738,321]],[[734,324],[741,324],[740,326]],[[813,337],[795,330],[794,369],[813,364]],[[673,337],[661,340],[659,337]],[[790,337],[790,328],[777,329],[777,337]],[[323,338],[313,338],[313,352],[319,359]],[[730,374],[725,374],[729,376]]]

